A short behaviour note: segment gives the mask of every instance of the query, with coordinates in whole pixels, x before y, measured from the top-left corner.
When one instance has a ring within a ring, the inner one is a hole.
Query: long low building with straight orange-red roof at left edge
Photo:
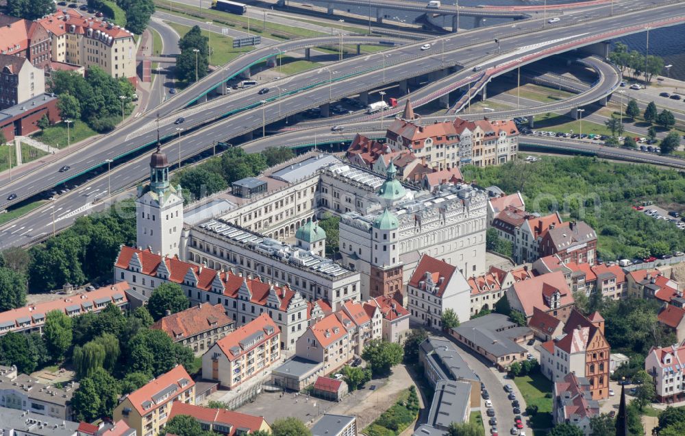
[[[31,304],[1,312],[0,335],[5,335],[7,332],[42,333],[45,315],[51,311],[61,311],[65,315],[75,317],[88,312],[103,311],[110,303],[123,310],[128,306],[127,291],[129,291],[129,284],[121,281],[111,286],[95,289],[95,291],[73,293],[59,300]]]

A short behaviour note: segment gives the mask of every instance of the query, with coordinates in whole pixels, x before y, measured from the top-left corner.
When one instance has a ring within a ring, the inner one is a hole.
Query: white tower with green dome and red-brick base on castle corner
[[[386,207],[371,225],[369,295],[394,296],[402,301],[402,263],[399,260],[399,221]]]

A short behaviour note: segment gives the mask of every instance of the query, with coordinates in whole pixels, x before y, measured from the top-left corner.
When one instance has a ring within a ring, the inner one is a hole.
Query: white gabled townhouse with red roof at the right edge
[[[678,402],[685,393],[685,345],[653,347],[645,359],[645,371],[652,376],[659,402]]]

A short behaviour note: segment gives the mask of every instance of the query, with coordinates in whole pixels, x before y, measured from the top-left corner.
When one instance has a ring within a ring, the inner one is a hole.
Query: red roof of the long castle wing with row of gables
[[[138,250],[133,247],[121,247],[119,256],[116,258],[116,267],[127,269],[132,258],[138,254],[140,258],[140,263],[142,268],[140,272],[147,276],[155,277],[157,270],[162,264],[162,256],[159,254],[154,254],[150,250]],[[259,278],[251,278],[236,276],[229,271],[220,272],[216,269],[211,269],[207,267],[200,267],[198,265],[193,265],[192,263],[186,263],[180,261],[179,258],[164,257],[164,264],[166,268],[169,269],[169,281],[179,284],[183,284],[184,277],[188,273],[188,270],[192,270],[192,274],[197,278],[198,289],[203,289],[205,291],[212,290],[212,282],[219,274],[219,279],[223,285],[223,295],[229,298],[237,298],[238,290],[243,284],[247,286],[250,291],[251,298],[250,302],[253,304],[258,304],[260,306],[266,306],[266,298],[269,297],[269,292],[272,289],[271,284],[262,282]],[[276,293],[279,300],[281,300],[281,306],[279,310],[286,311],[288,309],[288,304],[295,296],[295,291],[288,288],[285,284],[283,287],[273,286],[273,291]]]

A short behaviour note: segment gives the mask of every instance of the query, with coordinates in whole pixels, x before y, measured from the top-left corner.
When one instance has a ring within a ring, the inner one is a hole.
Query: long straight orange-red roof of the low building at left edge
[[[11,311],[5,311],[0,313],[0,325],[5,323],[14,322],[15,325],[10,327],[10,331],[17,328],[27,328],[27,326],[19,326],[17,320],[21,320],[22,324],[24,320],[28,320],[29,326],[41,325],[45,322],[45,315],[51,311],[62,311],[63,313],[69,315],[82,314],[86,311],[95,311],[96,304],[100,304],[98,300],[108,299],[113,304],[123,304],[127,302],[125,291],[129,290],[129,284],[127,282],[119,282],[112,284],[110,286],[104,286],[95,291],[79,292],[73,295],[67,295],[59,300],[52,300],[43,303],[38,303],[34,305],[24,306]],[[114,302],[114,295],[121,295],[121,303]],[[71,307],[78,308],[77,311],[71,312]],[[70,308],[69,313],[66,313],[66,308]],[[43,318],[39,319],[37,315],[42,315]]]

